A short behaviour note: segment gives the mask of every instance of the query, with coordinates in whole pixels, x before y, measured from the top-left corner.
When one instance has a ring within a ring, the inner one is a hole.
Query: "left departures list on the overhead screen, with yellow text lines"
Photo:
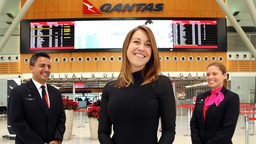
[[[30,22],[30,50],[74,49],[74,21]]]

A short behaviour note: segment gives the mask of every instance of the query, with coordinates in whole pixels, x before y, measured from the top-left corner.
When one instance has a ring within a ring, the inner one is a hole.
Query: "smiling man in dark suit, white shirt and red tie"
[[[32,79],[11,90],[8,120],[16,133],[15,144],[60,144],[65,132],[61,93],[46,84],[50,56],[43,52],[30,59]]]

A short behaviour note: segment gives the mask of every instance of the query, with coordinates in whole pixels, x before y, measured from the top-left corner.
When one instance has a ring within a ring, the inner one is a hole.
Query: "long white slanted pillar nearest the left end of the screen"
[[[20,12],[18,13],[17,17],[13,20],[13,23],[11,24],[9,29],[6,31],[6,34],[4,35],[2,41],[0,41],[0,52],[6,45],[6,42],[11,37],[11,34],[17,28],[18,24],[20,23],[20,20],[22,20],[22,18],[24,17],[24,15],[26,14],[30,6],[33,4],[33,2],[34,0],[27,0],[24,6],[22,7],[22,9],[20,9]]]

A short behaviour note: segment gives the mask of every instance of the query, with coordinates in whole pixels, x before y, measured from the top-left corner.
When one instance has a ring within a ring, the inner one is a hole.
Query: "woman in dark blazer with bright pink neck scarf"
[[[190,121],[192,144],[232,144],[239,96],[227,89],[227,73],[222,63],[208,65],[206,81],[211,90],[197,96]]]

